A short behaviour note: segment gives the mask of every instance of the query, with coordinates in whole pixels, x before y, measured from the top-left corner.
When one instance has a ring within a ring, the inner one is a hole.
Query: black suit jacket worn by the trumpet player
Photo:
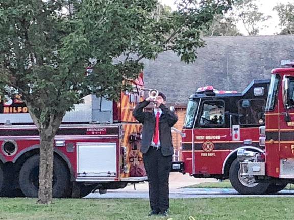
[[[152,141],[155,129],[155,115],[152,112],[143,112],[143,108],[149,104],[148,101],[142,101],[137,104],[134,109],[133,116],[143,124],[143,137],[141,152],[147,153]],[[161,145],[161,153],[163,156],[170,156],[174,153],[173,141],[171,140],[171,127],[178,121],[175,113],[171,112],[165,105],[161,104],[159,108],[162,114],[159,118],[159,140]]]

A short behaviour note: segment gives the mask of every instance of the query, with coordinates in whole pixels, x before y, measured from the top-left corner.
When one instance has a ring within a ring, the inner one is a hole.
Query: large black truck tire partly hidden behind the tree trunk
[[[34,155],[22,164],[19,172],[19,187],[26,197],[38,197],[39,190],[39,155]],[[58,157],[54,157],[53,186],[54,198],[70,196],[70,175],[66,164]]]

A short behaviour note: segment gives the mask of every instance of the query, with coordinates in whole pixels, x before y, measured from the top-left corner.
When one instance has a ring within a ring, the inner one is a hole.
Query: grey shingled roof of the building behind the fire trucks
[[[242,92],[254,79],[268,79],[283,59],[294,59],[294,35],[205,37],[192,64],[164,52],[144,60],[146,88],[167,96],[168,105],[185,106],[198,87]]]

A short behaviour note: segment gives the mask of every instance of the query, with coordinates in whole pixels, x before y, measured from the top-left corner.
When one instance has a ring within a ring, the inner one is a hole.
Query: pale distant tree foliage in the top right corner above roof
[[[280,27],[282,32],[280,34],[294,34],[294,4],[288,2],[287,4],[278,4],[274,7],[278,12],[280,19]]]

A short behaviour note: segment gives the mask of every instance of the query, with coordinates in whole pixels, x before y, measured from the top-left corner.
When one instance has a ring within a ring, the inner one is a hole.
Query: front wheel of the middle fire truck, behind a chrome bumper
[[[234,189],[240,194],[265,194],[269,185],[269,183],[256,183],[253,177],[242,177],[238,159],[231,164],[229,179]]]

